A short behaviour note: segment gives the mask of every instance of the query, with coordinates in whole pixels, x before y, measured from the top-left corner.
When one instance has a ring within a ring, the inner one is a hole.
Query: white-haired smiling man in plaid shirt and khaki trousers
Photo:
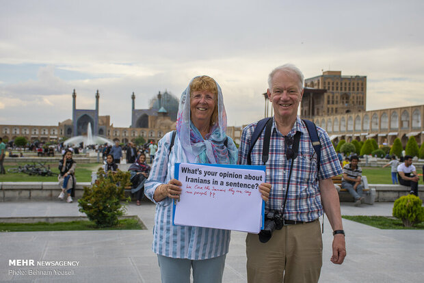
[[[266,182],[272,185],[265,212],[268,218],[282,215],[282,221],[274,217],[276,230],[268,241],[265,232],[261,231],[259,237],[248,234],[248,282],[318,282],[322,265],[319,217],[323,211],[334,230],[330,260],[341,264],[346,256],[339,195],[331,180],[342,173],[341,165],[326,131],[317,127],[321,144],[318,170],[317,152],[304,122],[297,117],[303,83],[302,72],[291,64],[269,74],[267,96],[275,114],[270,121],[269,157],[265,163]],[[248,164],[250,158],[252,165],[263,165],[266,129],[248,156],[256,126],[257,122],[243,129],[240,164]]]

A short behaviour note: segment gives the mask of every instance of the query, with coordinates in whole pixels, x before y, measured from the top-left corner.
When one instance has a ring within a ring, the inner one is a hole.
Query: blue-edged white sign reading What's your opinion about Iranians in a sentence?
[[[265,166],[176,163],[175,176],[183,183],[175,225],[261,231]]]

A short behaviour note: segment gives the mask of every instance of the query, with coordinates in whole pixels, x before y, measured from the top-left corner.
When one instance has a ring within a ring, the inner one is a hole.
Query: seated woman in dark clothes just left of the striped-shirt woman
[[[131,172],[131,193],[135,193],[137,199],[137,205],[141,204],[141,200],[144,196],[144,183],[150,174],[150,166],[146,163],[146,155],[141,153],[137,160],[128,169]]]

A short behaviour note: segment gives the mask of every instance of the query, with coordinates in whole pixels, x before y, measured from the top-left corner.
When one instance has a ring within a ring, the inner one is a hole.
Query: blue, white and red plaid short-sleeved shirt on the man
[[[239,164],[247,164],[250,139],[257,122],[246,126],[241,135],[239,147]],[[284,219],[297,221],[313,221],[323,214],[321,192],[317,178],[317,154],[315,154],[308,129],[297,117],[293,129],[287,134],[294,137],[300,131],[300,144],[297,158],[293,163],[293,172],[287,195]],[[317,126],[318,137],[321,142],[321,162],[318,180],[331,178],[342,173],[339,159],[332,146],[326,131]],[[257,140],[251,154],[252,165],[263,165],[262,147],[265,129]],[[276,128],[273,118],[271,140],[269,142],[269,159],[266,163],[266,182],[271,183],[269,201],[265,203],[265,211],[282,211],[289,179],[291,161],[286,158],[284,136]]]

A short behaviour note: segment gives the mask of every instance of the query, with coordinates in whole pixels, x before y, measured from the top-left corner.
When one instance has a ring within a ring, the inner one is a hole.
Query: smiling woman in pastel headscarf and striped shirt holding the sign
[[[226,111],[220,86],[207,76],[195,77],[181,95],[176,137],[160,141],[155,163],[146,182],[146,196],[155,202],[153,252],[158,256],[162,282],[222,282],[230,231],[192,226],[172,226],[172,202],[179,199],[181,182],[174,164],[235,164],[237,148],[226,131]],[[260,191],[267,200],[269,188]]]

